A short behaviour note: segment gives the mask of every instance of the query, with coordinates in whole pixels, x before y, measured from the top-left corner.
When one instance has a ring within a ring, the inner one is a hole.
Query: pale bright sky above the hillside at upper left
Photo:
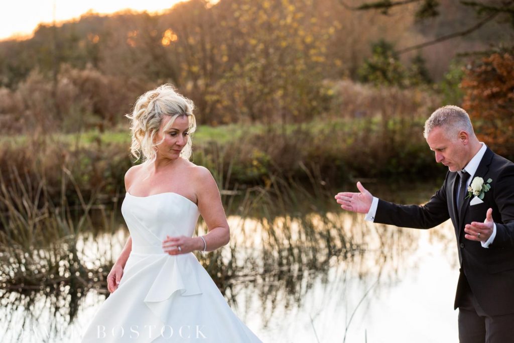
[[[0,0],[0,40],[13,35],[31,35],[39,23],[52,23],[53,6],[56,21],[80,17],[88,10],[113,13],[122,9],[156,12],[168,9],[181,0]]]

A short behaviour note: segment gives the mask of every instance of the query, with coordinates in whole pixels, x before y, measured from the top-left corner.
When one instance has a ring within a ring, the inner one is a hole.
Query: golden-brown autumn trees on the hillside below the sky
[[[0,42],[0,100],[19,100],[0,103],[0,131],[113,128],[162,83],[194,101],[201,124],[310,121],[330,112],[329,85],[357,75],[369,42],[409,44],[412,22],[331,0],[190,0],[42,24],[32,39]]]

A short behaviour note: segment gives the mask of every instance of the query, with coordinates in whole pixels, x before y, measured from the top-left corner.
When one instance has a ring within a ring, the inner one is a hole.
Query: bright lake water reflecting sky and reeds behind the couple
[[[431,322],[439,316],[443,337],[456,330],[451,309],[457,262],[450,223],[427,232],[371,224],[341,212],[261,219],[233,215],[229,221],[237,228],[231,247],[211,259],[236,265],[230,277],[216,281],[264,341],[410,342],[413,335],[418,342],[436,341],[410,321],[424,316]],[[318,245],[306,235],[316,237]],[[112,258],[104,255],[108,251],[117,256],[125,239],[126,229],[95,239],[84,234],[78,250],[95,268]],[[270,240],[278,249],[269,249]],[[95,262],[99,257],[105,260]],[[212,267],[208,257],[199,258]],[[78,340],[107,295],[104,280],[96,281],[91,290],[73,284],[2,290],[2,341]]]

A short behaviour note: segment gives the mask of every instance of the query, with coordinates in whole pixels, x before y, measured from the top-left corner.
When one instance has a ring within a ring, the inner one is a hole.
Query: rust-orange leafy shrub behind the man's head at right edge
[[[463,107],[488,146],[514,157],[514,53],[494,53],[473,64],[461,83]]]

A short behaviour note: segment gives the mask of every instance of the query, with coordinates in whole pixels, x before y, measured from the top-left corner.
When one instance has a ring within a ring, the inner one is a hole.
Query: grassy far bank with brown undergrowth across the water
[[[341,118],[288,125],[200,126],[193,137],[194,163],[211,170],[221,188],[266,186],[270,177],[327,187],[356,179],[433,178],[444,174],[421,134],[423,120]],[[69,173],[86,196],[99,201],[124,192],[133,165],[127,131],[3,137],[0,172],[24,183],[44,182],[51,198]],[[67,183],[70,203],[79,203]]]

